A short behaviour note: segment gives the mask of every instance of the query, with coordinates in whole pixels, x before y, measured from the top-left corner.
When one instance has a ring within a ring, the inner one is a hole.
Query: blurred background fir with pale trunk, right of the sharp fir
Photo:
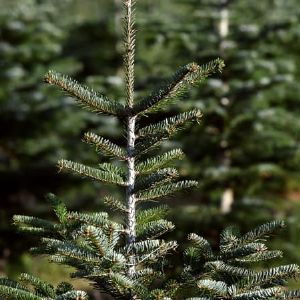
[[[181,225],[193,212],[214,235],[224,222],[249,227],[293,207],[288,198],[299,188],[300,134],[296,2],[176,0],[165,10],[154,3],[141,17],[151,23],[141,29],[138,53],[150,52],[141,59],[141,72],[156,66],[161,80],[167,68],[160,68],[161,60],[171,66],[222,57],[227,65],[221,79],[209,79],[174,107],[196,103],[204,114],[200,129],[183,133],[190,158],[183,171],[202,184],[189,195],[191,205],[178,201],[174,218]]]

